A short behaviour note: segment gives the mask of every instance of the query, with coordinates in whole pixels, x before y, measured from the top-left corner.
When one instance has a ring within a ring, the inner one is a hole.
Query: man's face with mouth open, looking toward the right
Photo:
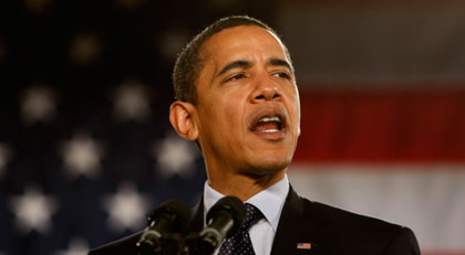
[[[207,40],[203,57],[195,121],[207,169],[258,177],[285,170],[300,132],[300,103],[281,42],[241,25]]]

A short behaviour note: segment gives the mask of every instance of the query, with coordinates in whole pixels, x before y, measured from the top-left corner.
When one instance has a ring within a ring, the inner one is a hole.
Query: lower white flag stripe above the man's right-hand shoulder
[[[465,164],[292,164],[303,196],[411,227],[423,252],[465,252]]]

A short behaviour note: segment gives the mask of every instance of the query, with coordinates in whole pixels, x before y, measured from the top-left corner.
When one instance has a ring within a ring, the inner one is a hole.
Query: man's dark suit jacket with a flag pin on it
[[[189,232],[204,226],[203,201],[193,210]],[[90,255],[133,255],[141,233],[90,252]],[[310,244],[310,249],[298,248]],[[362,216],[298,195],[292,187],[282,209],[271,254],[273,255],[411,255],[420,254],[407,227]],[[260,255],[260,254],[257,254]]]

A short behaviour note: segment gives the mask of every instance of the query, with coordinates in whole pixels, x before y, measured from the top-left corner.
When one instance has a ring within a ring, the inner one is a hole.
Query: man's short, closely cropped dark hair
[[[278,36],[270,26],[247,15],[226,17],[207,26],[197,34],[177,56],[173,71],[173,87],[177,100],[189,102],[192,104],[197,103],[196,81],[204,67],[205,61],[202,56],[203,45],[214,34],[219,33],[225,29],[240,25],[256,25],[266,29]],[[289,55],[287,49],[286,54]]]

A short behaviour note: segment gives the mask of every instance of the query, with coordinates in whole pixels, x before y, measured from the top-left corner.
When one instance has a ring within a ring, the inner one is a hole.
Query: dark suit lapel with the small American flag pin
[[[318,225],[321,222],[314,223],[312,221],[316,217],[312,217],[313,213],[308,210],[306,203],[311,204],[311,202],[300,198],[290,187],[275,235],[271,254],[324,254],[318,245]],[[301,245],[298,247],[299,243]]]

